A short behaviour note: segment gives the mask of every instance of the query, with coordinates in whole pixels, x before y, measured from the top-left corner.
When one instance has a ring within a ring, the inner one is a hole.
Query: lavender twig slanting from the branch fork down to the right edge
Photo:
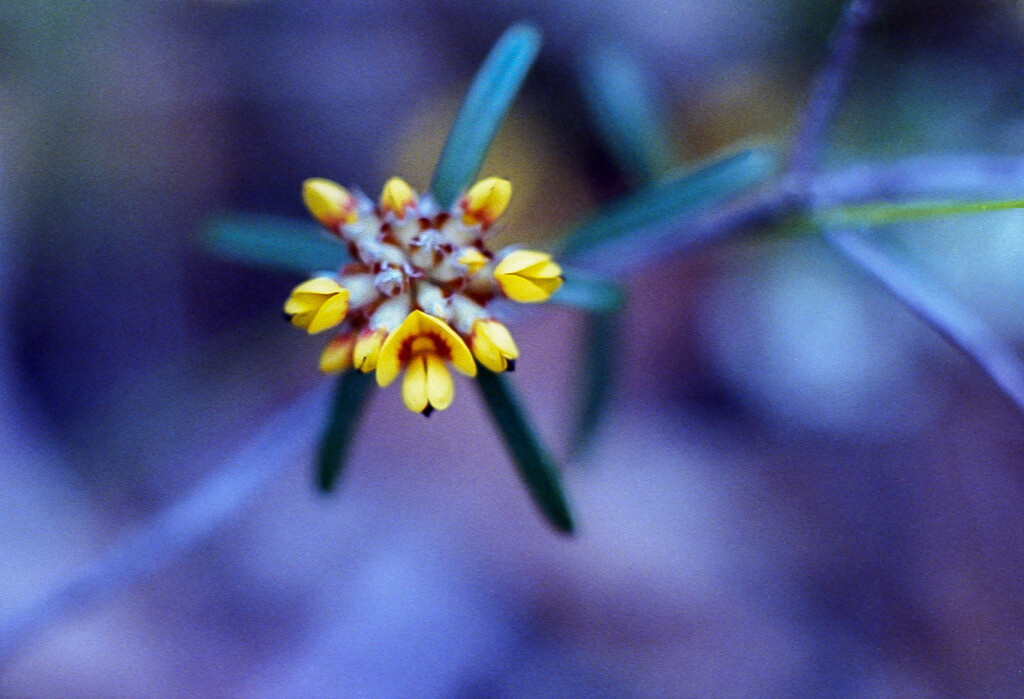
[[[825,241],[879,281],[949,344],[977,362],[1024,412],[1024,364],[1014,348],[989,330],[987,323],[955,299],[922,279],[920,272],[873,246],[863,234],[833,231],[825,234]]]

